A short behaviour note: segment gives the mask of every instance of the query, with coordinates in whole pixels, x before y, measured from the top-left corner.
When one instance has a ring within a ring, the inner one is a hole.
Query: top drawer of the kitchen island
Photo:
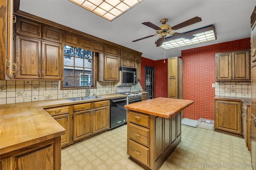
[[[149,128],[149,115],[129,111],[130,122]]]

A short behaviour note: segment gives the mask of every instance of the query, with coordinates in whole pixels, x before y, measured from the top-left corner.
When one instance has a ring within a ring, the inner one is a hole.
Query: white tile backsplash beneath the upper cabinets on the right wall
[[[215,82],[215,95],[250,98],[252,86],[250,82]]]

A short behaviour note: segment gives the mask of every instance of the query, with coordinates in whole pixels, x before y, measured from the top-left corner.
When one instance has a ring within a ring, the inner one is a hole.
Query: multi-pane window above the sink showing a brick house
[[[92,51],[64,45],[63,88],[80,88],[93,83]]]

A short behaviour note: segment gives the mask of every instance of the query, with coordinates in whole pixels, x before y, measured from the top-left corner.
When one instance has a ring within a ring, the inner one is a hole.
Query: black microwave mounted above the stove
[[[137,68],[121,66],[120,71],[122,72],[123,86],[132,86],[137,84]]]

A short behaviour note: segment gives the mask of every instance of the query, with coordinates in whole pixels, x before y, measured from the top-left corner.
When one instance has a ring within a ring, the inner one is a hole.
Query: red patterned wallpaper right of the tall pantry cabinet
[[[184,109],[184,117],[214,120],[215,53],[250,49],[250,38],[181,51],[183,98],[194,104]]]

